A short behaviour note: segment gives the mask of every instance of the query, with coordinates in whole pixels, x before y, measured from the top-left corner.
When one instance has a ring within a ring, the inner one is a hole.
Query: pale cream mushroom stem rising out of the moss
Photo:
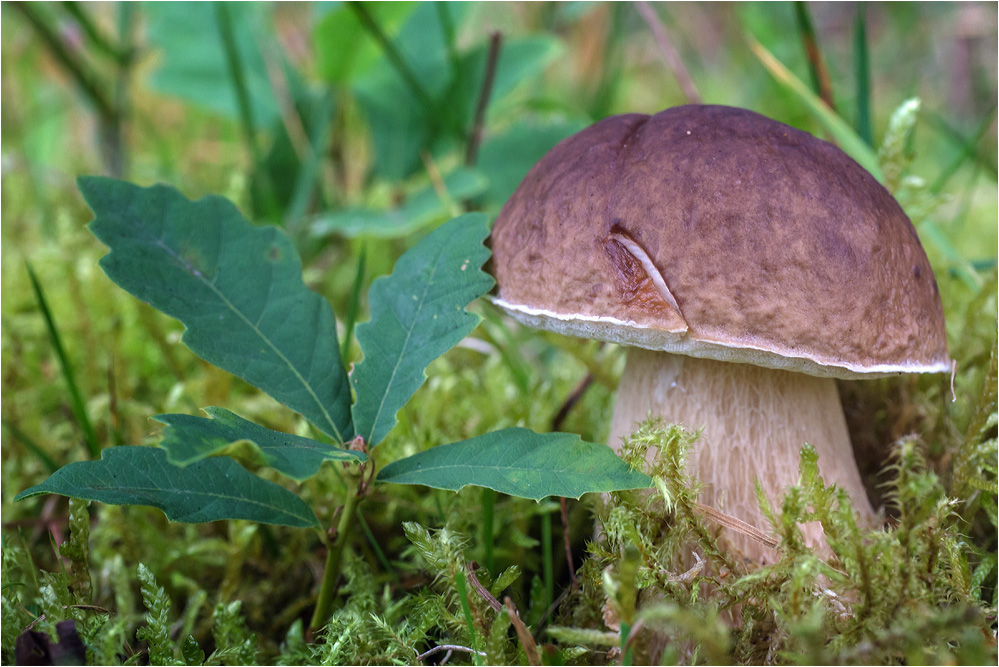
[[[704,484],[705,505],[769,530],[754,482],[759,480],[779,510],[784,490],[798,481],[800,450],[807,442],[818,452],[825,483],[845,489],[861,515],[874,516],[830,378],[632,347],[618,388],[611,446],[620,449],[622,439],[650,414],[703,429],[688,470]],[[817,523],[802,529],[808,544],[823,544]],[[776,557],[745,535],[724,531],[722,537],[749,562]]]

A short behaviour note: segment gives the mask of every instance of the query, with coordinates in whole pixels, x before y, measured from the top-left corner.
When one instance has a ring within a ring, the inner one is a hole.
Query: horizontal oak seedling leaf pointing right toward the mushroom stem
[[[485,486],[532,500],[652,485],[648,475],[629,468],[607,445],[585,442],[571,433],[542,434],[525,428],[434,447],[390,463],[378,479],[450,491]]]

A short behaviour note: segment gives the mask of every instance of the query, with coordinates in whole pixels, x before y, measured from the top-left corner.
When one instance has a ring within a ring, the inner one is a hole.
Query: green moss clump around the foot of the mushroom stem
[[[994,452],[994,430],[992,437]],[[583,568],[582,600],[567,619],[577,631],[630,626],[622,646],[636,662],[995,661],[994,553],[969,546],[962,503],[948,496],[917,440],[897,442],[888,467],[896,518],[867,531],[846,494],[823,483],[820,462],[805,446],[799,484],[779,513],[765,507],[780,557],[754,571],[719,551],[717,527],[697,505],[683,469],[694,440],[650,420],[627,441],[625,456],[635,464],[654,451],[656,491],[614,494],[600,511],[604,532]],[[994,504],[994,478],[982,493]],[[805,547],[798,524],[808,521],[821,522],[829,555]],[[558,634],[606,643],[569,628]]]

